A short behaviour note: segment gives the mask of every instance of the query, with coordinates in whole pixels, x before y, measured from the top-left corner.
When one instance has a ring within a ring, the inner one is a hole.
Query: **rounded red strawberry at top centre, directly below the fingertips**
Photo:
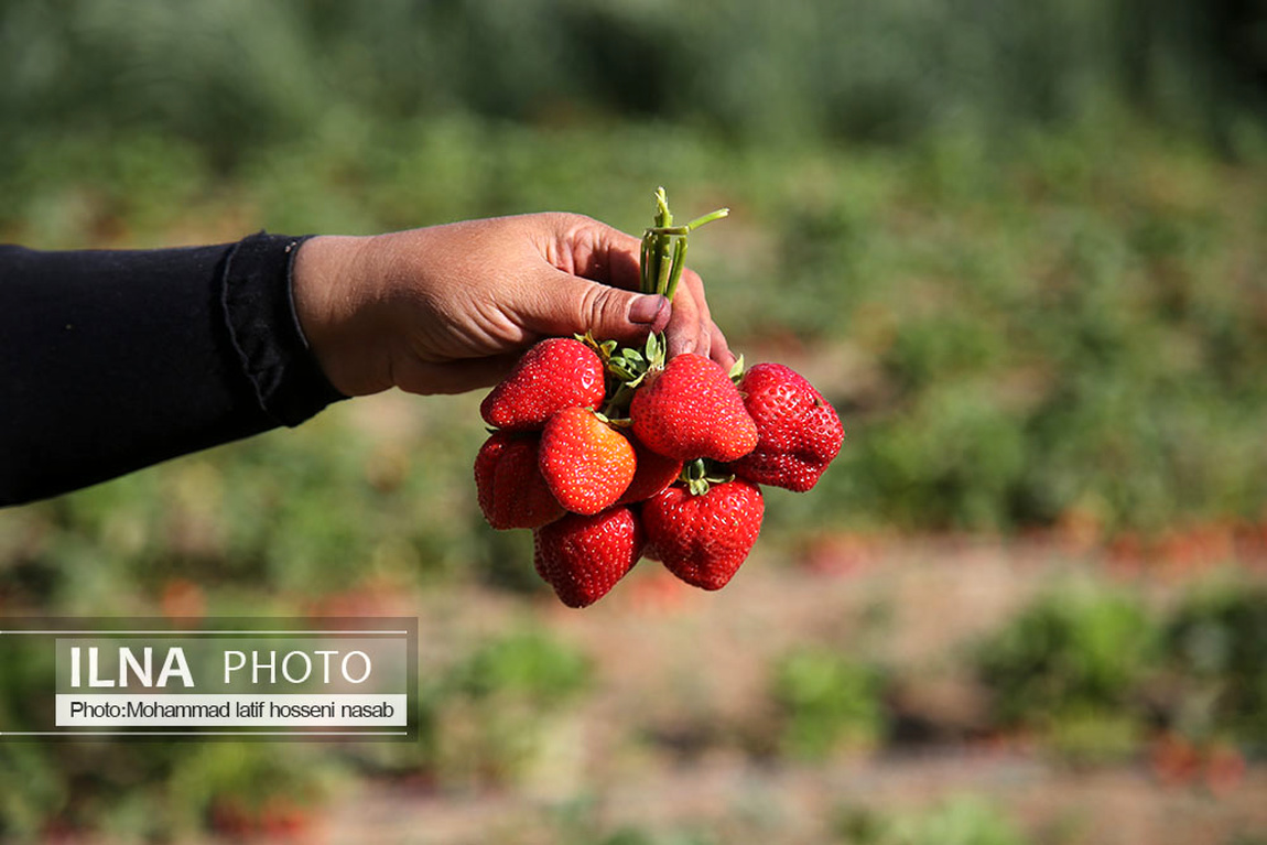
[[[730,376],[694,352],[650,372],[630,404],[634,433],[650,448],[678,460],[734,461],[756,446],[756,423]]]

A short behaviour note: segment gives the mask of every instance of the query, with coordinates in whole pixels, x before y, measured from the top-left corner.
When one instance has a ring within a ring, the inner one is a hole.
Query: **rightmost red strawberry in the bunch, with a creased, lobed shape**
[[[740,478],[803,493],[840,452],[844,426],[813,385],[782,364],[758,364],[739,383],[756,422],[756,448],[735,461]]]

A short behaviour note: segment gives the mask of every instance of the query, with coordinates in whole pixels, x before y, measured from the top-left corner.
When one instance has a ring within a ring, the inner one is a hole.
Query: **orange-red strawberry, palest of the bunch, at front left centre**
[[[614,504],[634,479],[635,461],[634,446],[589,408],[565,408],[541,432],[541,475],[573,513]]]

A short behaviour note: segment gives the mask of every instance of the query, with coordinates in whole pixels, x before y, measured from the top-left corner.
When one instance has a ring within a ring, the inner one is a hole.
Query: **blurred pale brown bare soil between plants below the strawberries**
[[[974,703],[962,701],[952,669],[960,644],[1053,581],[1106,578],[1104,561],[1050,546],[845,542],[821,554],[827,559],[812,566],[758,556],[717,594],[644,568],[585,612],[533,606],[557,637],[595,656],[599,678],[550,728],[531,772],[488,792],[365,784],[315,832],[329,842],[514,845],[594,842],[630,827],[665,836],[631,841],[808,845],[848,841],[839,826],[850,812],[926,812],[974,796],[1034,842],[1267,841],[1267,766],[1215,794],[1163,785],[1143,760],[1079,772],[979,744],[821,764],[746,754],[736,734],[763,716],[769,663],[798,644],[854,649],[922,674],[927,683],[912,693],[922,706],[971,720]],[[1175,585],[1139,573],[1125,583],[1158,599]],[[479,590],[452,599],[419,611],[437,660],[446,644],[522,623],[521,603]]]

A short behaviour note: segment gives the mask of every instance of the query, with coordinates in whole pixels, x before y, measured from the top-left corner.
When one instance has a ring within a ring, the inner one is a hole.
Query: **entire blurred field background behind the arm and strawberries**
[[[721,593],[583,612],[479,514],[478,395],[0,511],[4,614],[418,616],[423,702],[4,744],[0,841],[1267,842],[1264,117],[1263,0],[5,0],[0,239],[637,233],[665,185],[849,440]]]

